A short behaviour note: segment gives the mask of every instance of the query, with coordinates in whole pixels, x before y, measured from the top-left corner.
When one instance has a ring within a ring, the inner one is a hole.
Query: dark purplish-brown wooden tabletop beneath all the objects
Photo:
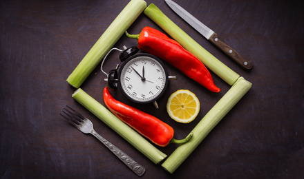
[[[218,34],[254,67],[243,70],[193,30],[164,1],[154,3],[232,70],[253,83],[175,173],[140,154],[111,128],[77,103],[66,78],[129,1],[0,1],[0,176],[1,178],[139,178],[91,135],[82,134],[59,111],[70,105],[91,119],[95,130],[146,167],[142,178],[304,178],[304,12],[303,1],[175,0]],[[161,30],[144,14],[131,34],[145,26]],[[136,45],[122,36],[115,44]],[[113,53],[108,72],[120,63]],[[211,72],[222,89],[209,92],[165,63],[169,90],[153,105],[118,100],[153,114],[184,138],[230,86]],[[103,102],[106,86],[100,65],[82,89]],[[170,94],[189,89],[200,99],[198,118],[189,124],[169,118]],[[168,156],[177,145],[158,147]]]

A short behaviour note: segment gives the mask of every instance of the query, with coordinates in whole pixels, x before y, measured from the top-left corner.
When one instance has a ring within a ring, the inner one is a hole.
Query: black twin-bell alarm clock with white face
[[[117,65],[115,70],[106,74],[102,66],[112,50],[121,52],[120,61],[123,63],[120,68],[120,65]],[[169,80],[176,77],[168,75],[164,63],[158,57],[146,53],[137,54],[138,51],[136,46],[124,46],[124,50],[111,49],[102,61],[101,70],[107,76],[104,80],[108,82],[110,90],[115,91],[119,87],[130,101],[140,104],[153,103],[158,109],[156,100],[166,91]]]

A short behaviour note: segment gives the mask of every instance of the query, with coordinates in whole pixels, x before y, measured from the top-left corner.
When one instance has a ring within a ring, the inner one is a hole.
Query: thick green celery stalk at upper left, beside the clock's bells
[[[68,83],[73,87],[80,87],[89,74],[102,61],[106,53],[111,50],[113,45],[120,39],[122,34],[130,27],[137,17],[146,8],[143,0],[131,0],[126,7],[118,14],[111,25],[100,36],[84,59],[77,65],[75,70],[68,76]]]

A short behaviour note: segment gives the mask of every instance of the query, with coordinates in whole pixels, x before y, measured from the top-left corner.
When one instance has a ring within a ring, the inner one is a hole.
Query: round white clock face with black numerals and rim
[[[137,103],[155,101],[168,83],[167,70],[162,61],[149,54],[136,54],[127,59],[118,76],[122,93]]]

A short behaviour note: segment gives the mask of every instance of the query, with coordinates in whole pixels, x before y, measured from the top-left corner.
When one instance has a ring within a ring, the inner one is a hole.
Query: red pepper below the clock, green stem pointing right
[[[142,134],[142,136],[149,138],[149,140],[161,147],[166,147],[169,143],[186,143],[193,136],[191,133],[187,138],[175,140],[173,138],[174,130],[171,126],[150,114],[146,114],[145,112],[136,109],[135,107],[131,107],[115,100],[108,91],[108,87],[104,87],[104,103],[106,104],[106,107],[108,107],[108,109],[117,116],[117,118],[135,129],[138,133]]]

